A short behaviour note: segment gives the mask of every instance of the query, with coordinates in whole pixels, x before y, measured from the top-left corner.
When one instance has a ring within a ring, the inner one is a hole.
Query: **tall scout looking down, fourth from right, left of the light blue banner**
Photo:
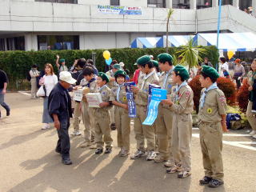
[[[155,157],[154,147],[154,127],[153,126],[144,126],[142,122],[146,119],[146,110],[149,94],[149,85],[150,84],[159,84],[159,78],[154,70],[153,63],[150,61],[148,55],[144,55],[141,58],[138,58],[137,65],[141,66],[142,73],[144,75],[140,76],[138,79],[138,86],[132,86],[132,91],[135,94],[135,103],[137,110],[137,118],[134,118],[134,132],[135,139],[137,141],[137,151],[130,158],[136,159],[141,158],[145,154],[145,138],[147,142],[148,154],[146,160],[153,160]]]

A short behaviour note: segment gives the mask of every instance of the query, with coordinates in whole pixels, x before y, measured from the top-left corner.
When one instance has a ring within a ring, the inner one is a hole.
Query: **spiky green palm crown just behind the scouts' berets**
[[[188,65],[190,71],[191,67],[198,66],[198,62],[202,62],[200,54],[207,54],[207,51],[196,46],[194,39],[190,37],[186,45],[180,46],[175,54],[178,55],[178,58],[182,58],[180,63],[184,66]]]

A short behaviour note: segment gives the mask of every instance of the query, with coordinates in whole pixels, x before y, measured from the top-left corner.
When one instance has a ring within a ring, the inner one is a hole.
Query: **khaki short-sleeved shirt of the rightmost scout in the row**
[[[202,89],[202,93],[206,89]],[[220,122],[226,114],[226,98],[222,90],[214,89],[206,93],[204,106],[199,107],[198,119],[202,122]]]

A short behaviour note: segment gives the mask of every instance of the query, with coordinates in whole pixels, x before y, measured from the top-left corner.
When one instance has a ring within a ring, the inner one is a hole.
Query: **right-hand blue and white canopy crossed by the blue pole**
[[[216,46],[217,34],[197,34],[195,37],[199,46]],[[256,34],[230,33],[219,34],[219,50],[254,51],[256,49]]]

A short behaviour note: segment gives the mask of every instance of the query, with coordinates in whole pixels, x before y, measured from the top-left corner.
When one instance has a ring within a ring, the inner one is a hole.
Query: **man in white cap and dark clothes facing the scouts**
[[[70,137],[69,127],[72,118],[71,98],[67,89],[76,80],[72,78],[70,72],[63,71],[59,74],[59,82],[50,92],[48,109],[50,117],[54,119],[54,127],[58,131],[58,142],[55,151],[62,154],[62,163],[71,165],[70,160]]]

